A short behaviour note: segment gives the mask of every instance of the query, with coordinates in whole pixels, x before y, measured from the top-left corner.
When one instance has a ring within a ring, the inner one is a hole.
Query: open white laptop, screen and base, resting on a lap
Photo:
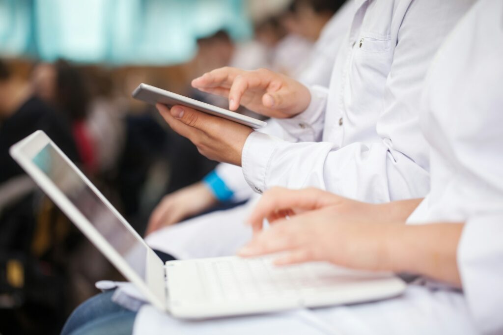
[[[390,273],[353,271],[320,262],[275,267],[273,257],[163,264],[44,132],[13,145],[11,155],[152,305],[175,317],[349,304],[393,297],[405,289],[405,283]]]

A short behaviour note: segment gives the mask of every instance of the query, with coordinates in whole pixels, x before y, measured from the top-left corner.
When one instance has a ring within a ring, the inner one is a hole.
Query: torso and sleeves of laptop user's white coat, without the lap
[[[466,222],[458,267],[470,312],[503,333],[503,2],[479,1],[436,57],[422,128],[432,188],[410,222]]]

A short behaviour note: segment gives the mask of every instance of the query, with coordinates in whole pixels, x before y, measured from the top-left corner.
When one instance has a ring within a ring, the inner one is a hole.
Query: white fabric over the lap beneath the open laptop
[[[477,334],[462,293],[409,285],[397,298],[350,306],[184,321],[143,306],[133,334]]]

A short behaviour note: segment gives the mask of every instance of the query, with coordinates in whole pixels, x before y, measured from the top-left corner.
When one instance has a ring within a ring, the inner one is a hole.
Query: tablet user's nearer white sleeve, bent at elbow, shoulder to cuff
[[[432,9],[423,8],[428,6]],[[413,3],[399,27],[377,124],[380,142],[355,142],[338,149],[332,143],[286,143],[253,133],[242,153],[250,187],[262,192],[273,186],[313,186],[369,202],[424,197],[429,189],[428,144],[418,131],[424,77],[461,16],[449,12],[452,6],[437,7],[436,2]],[[317,137],[314,131],[311,138]]]

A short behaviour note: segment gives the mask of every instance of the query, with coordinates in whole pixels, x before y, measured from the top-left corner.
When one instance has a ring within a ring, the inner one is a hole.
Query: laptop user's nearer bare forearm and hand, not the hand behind
[[[457,247],[463,224],[375,224],[333,215],[326,208],[279,220],[239,255],[282,252],[286,255],[277,259],[277,265],[328,261],[353,269],[415,273],[461,286]]]

